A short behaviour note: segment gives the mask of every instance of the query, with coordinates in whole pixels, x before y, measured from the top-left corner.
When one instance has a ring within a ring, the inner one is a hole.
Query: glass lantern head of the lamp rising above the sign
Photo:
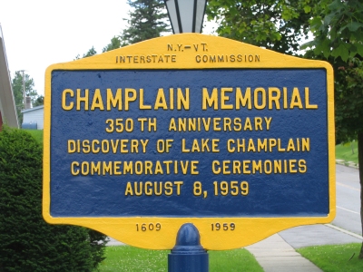
[[[207,0],[164,0],[172,32],[201,33]]]

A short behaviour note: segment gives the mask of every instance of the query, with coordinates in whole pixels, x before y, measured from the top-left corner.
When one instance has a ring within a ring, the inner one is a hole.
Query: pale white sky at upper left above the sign
[[[126,0],[0,0],[7,62],[12,78],[25,70],[44,94],[45,69],[94,46],[97,53],[126,27]]]

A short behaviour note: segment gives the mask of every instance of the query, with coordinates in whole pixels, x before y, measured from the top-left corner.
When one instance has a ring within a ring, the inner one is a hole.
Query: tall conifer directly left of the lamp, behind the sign
[[[129,26],[121,35],[123,45],[139,43],[171,32],[166,23],[168,15],[162,0],[127,0],[127,3],[132,11],[129,11],[130,19],[126,20]]]

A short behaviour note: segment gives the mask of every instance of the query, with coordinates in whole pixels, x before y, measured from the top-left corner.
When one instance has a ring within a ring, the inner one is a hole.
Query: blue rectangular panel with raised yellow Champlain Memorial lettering
[[[325,69],[52,72],[52,217],[326,217]]]

